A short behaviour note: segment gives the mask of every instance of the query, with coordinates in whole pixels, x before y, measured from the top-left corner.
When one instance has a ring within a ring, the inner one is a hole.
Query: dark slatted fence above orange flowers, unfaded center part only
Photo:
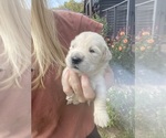
[[[135,0],[124,0],[111,8],[103,10],[103,15],[106,18],[111,29],[110,35],[116,36],[118,31],[123,30],[126,34],[135,34]]]

